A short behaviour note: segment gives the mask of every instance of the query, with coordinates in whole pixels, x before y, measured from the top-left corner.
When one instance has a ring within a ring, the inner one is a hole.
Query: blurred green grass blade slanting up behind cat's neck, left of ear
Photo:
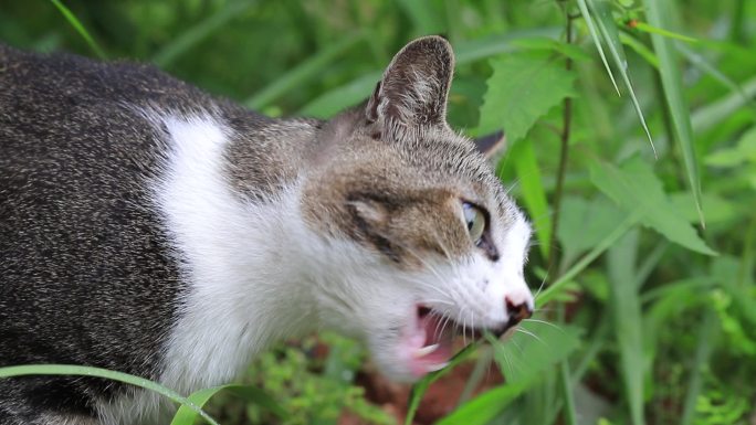
[[[364,32],[346,35],[340,42],[316,53],[295,68],[267,84],[265,88],[244,100],[244,104],[253,109],[261,109],[270,105],[271,102],[277,99],[281,95],[319,75],[335,59],[363,40],[365,40]]]

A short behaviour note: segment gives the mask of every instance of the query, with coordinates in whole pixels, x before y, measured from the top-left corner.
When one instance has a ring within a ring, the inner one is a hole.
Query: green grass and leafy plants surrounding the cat
[[[462,396],[416,421],[756,423],[756,3],[64,3],[90,41],[55,3],[8,0],[0,40],[153,62],[276,116],[328,117],[365,98],[407,41],[449,38],[450,123],[507,134],[497,170],[535,223],[538,314],[510,342],[465,352],[468,383],[445,390]],[[395,423],[405,407],[376,405],[355,381],[363,357],[327,334],[282,346],[210,412]],[[492,359],[505,381],[472,396]]]

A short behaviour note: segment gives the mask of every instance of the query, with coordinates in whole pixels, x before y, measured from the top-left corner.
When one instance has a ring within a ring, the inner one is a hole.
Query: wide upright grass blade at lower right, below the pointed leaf
[[[643,424],[643,338],[641,304],[636,284],[639,232],[632,231],[609,249],[609,310],[620,351],[624,392],[633,425]]]

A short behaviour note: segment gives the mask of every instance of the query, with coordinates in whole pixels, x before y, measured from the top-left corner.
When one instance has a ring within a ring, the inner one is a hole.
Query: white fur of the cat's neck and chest
[[[161,381],[192,391],[232,380],[270,343],[317,327],[301,248],[313,236],[298,213],[298,179],[245,201],[227,184],[233,135],[223,123],[164,123],[171,152],[155,193],[189,287]]]

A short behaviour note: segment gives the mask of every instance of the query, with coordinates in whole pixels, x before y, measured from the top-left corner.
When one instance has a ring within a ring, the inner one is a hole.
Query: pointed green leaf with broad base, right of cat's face
[[[657,176],[639,157],[627,161],[621,169],[594,160],[590,164],[590,179],[601,192],[624,210],[638,210],[643,225],[689,249],[716,255],[699,237],[693,226],[682,219],[682,212],[670,202]]]

